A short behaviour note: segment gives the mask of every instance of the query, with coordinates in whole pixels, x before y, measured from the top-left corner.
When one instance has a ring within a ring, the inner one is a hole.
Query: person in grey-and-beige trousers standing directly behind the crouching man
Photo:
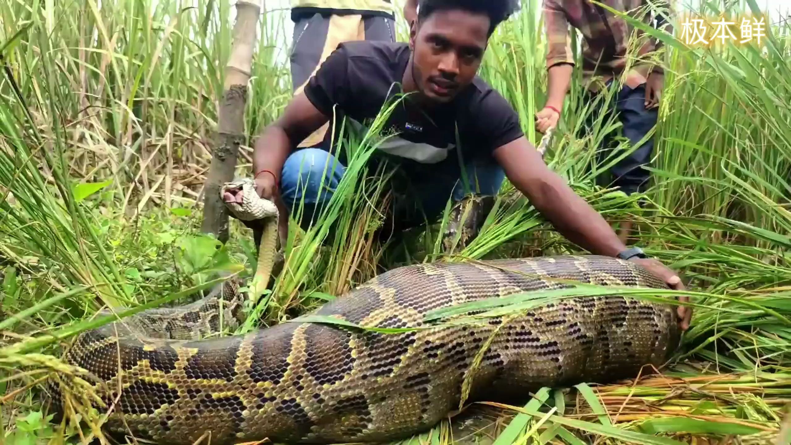
[[[395,15],[391,0],[292,0],[294,22],[291,84],[301,93],[327,55],[351,40],[395,42]],[[324,141],[328,125],[320,127],[299,146]]]

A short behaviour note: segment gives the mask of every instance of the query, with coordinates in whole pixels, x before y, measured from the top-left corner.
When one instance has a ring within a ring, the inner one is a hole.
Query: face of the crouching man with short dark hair
[[[437,11],[410,36],[414,83],[431,101],[448,102],[475,78],[486,50],[489,17]]]

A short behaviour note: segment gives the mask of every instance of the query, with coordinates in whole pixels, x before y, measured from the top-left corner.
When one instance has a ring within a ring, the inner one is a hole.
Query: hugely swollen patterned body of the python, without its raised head
[[[385,272],[313,314],[426,327],[422,318],[433,309],[567,287],[518,272],[665,287],[637,264],[610,257],[418,264]],[[465,373],[498,327],[467,401],[524,400],[541,386],[634,377],[664,363],[679,340],[673,306],[621,296],[561,299],[502,321],[395,334],[284,322],[204,340],[146,338],[134,323],[116,330],[119,321],[81,334],[67,360],[99,378],[105,403],[118,397],[108,432],[173,444],[207,431],[211,443],[378,442],[425,431],[457,409]]]

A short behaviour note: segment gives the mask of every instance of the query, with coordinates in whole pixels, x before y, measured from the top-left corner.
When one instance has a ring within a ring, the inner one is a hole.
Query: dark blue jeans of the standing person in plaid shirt
[[[607,86],[611,86],[611,82],[607,82]],[[589,99],[592,99],[592,97],[589,96]],[[598,107],[602,106],[598,105]],[[657,124],[658,108],[645,108],[645,83],[635,88],[624,85],[618,92],[612,109],[594,110],[590,119],[595,118],[602,111],[615,112],[618,120],[623,125],[623,136],[629,139],[633,146],[639,143],[640,139]],[[604,162],[605,158],[610,154],[612,143],[612,135],[607,135],[603,140],[604,146],[601,147],[603,150],[599,152],[599,162]],[[609,184],[603,177],[597,178],[598,183],[604,186],[614,185],[619,187],[627,195],[631,195],[634,192],[644,192],[649,184],[650,172],[644,169],[643,166],[650,165],[653,146],[653,138],[646,140],[645,143],[642,143],[632,153],[611,167],[611,182]]]

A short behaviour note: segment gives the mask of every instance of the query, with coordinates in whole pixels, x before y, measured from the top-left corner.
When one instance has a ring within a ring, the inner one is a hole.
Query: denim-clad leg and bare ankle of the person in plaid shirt
[[[629,139],[632,146],[637,146],[628,156],[613,165],[611,169],[613,184],[627,195],[644,192],[650,180],[649,170],[643,168],[650,165],[653,154],[653,136],[642,142],[645,135],[657,124],[658,108],[645,108],[645,84],[630,88],[623,86],[619,92],[615,111],[623,124],[623,136]],[[626,244],[631,233],[632,223],[624,221],[619,228],[619,238]]]

